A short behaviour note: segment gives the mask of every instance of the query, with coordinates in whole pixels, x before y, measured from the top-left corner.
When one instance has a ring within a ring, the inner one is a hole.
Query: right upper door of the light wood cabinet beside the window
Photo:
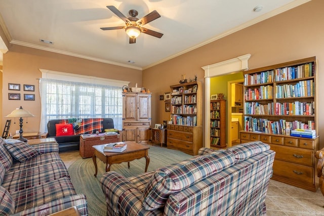
[[[151,95],[149,94],[137,95],[137,120],[138,121],[151,120]]]

